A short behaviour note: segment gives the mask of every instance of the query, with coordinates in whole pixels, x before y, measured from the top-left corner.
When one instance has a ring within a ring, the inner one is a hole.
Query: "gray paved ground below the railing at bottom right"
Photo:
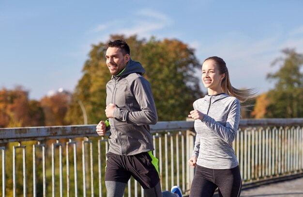
[[[243,189],[241,197],[303,197],[303,177]]]

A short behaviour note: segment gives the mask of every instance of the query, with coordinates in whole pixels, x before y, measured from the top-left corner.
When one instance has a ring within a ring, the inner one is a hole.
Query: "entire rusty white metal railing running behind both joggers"
[[[192,121],[152,125],[163,190],[179,185],[189,193],[194,169],[187,165],[194,146]],[[233,148],[243,185],[303,174],[303,118],[242,119]],[[0,196],[106,196],[107,136],[95,125],[0,129]],[[125,197],[141,196],[132,178]]]

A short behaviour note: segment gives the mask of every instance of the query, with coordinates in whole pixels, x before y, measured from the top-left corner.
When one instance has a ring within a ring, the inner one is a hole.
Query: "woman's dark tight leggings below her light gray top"
[[[212,197],[216,188],[220,197],[240,197],[242,180],[239,165],[232,169],[210,169],[197,165],[190,197]]]

